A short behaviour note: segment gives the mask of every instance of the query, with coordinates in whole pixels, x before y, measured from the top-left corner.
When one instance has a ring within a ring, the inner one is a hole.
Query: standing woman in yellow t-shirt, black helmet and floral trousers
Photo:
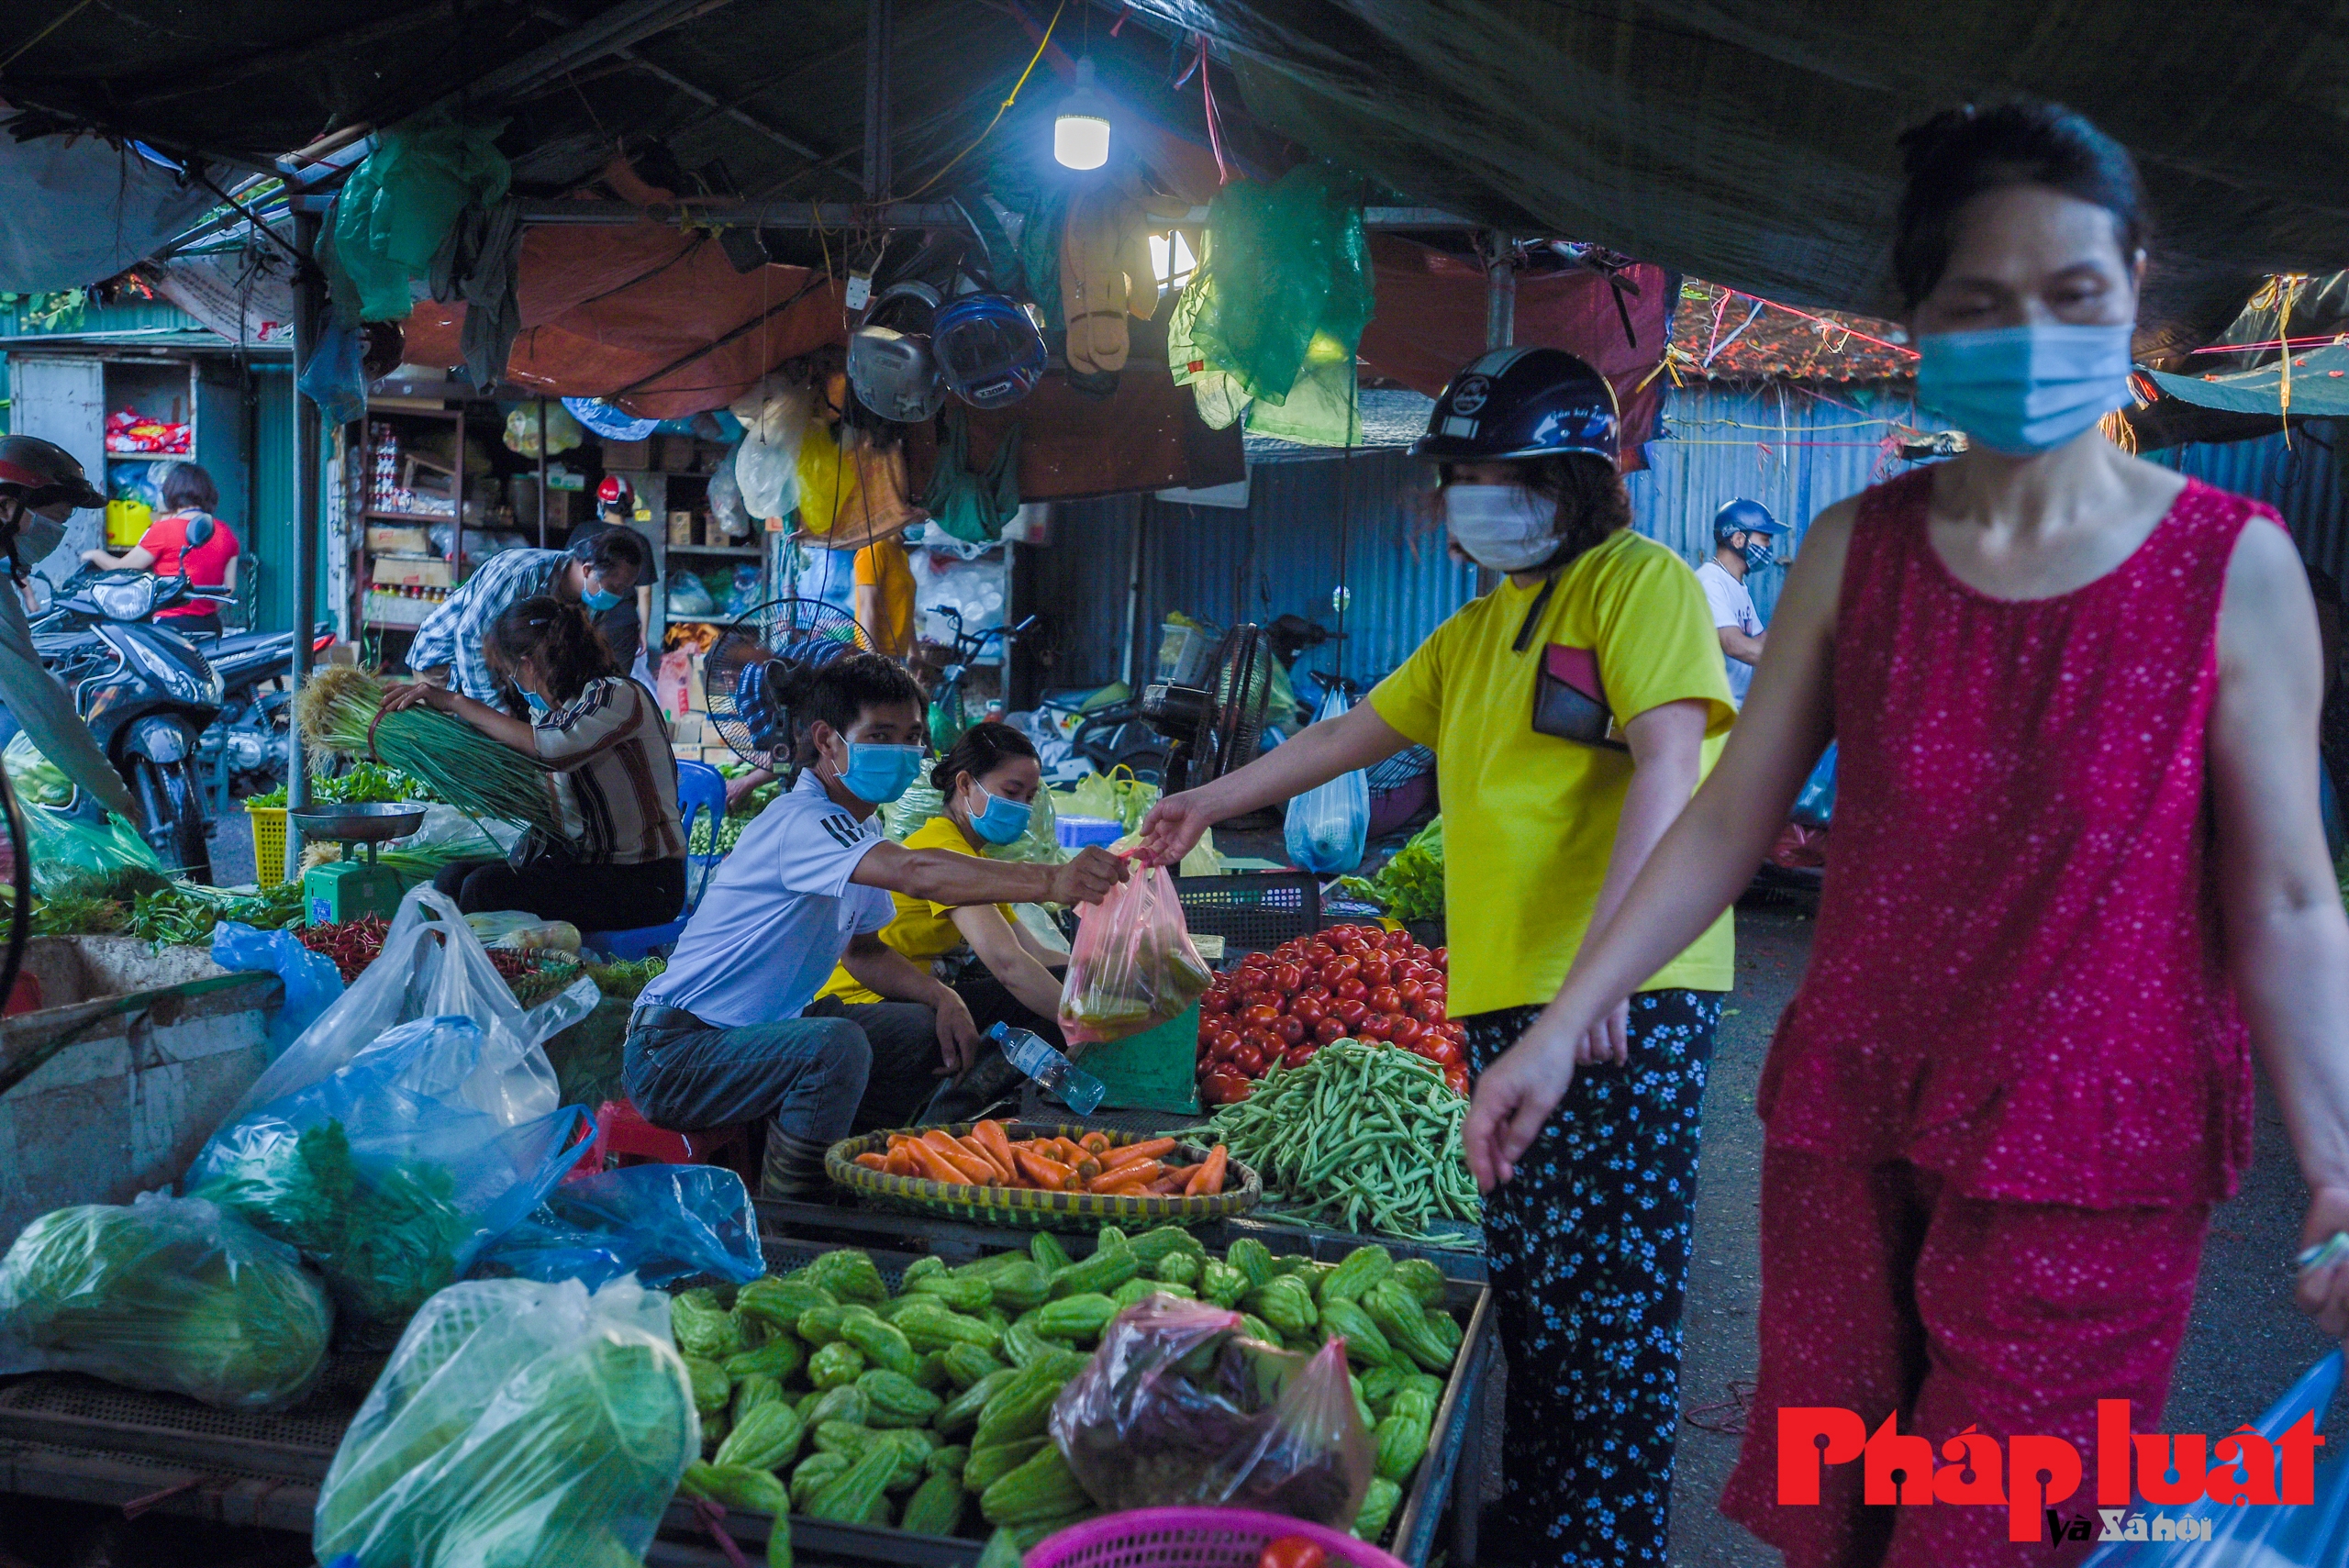
[[[1630,530],[1607,380],[1560,350],[1463,369],[1412,446],[1452,542],[1503,573],[1369,702],[1158,803],[1172,861],[1407,744],[1445,803],[1449,1012],[1482,1073],[1630,892],[1736,711],[1696,573]],[[1485,1197],[1508,1347],[1501,1563],[1663,1563],[1698,1108],[1731,984],[1724,915],[1581,1040],[1574,1089]],[[1520,1190],[1522,1188],[1522,1190]],[[1520,1376],[1520,1368],[1527,1376]]]

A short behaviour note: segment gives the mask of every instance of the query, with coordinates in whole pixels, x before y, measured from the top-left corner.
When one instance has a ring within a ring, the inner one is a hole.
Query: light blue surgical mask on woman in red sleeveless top
[[[2013,458],[2128,404],[2131,326],[1994,326],[1917,338],[1917,401]]]

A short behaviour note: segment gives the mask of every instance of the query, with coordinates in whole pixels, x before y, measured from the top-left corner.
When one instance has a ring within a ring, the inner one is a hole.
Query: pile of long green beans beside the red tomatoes
[[[1461,1127],[1468,1101],[1431,1061],[1337,1040],[1304,1066],[1280,1066],[1257,1091],[1182,1136],[1219,1141],[1299,1218],[1409,1242],[1452,1239],[1431,1221],[1480,1221]],[[1278,1188],[1278,1192],[1276,1192]]]

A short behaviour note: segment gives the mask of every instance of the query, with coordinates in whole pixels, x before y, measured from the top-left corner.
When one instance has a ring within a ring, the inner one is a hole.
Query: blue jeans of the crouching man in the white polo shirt
[[[674,1007],[630,1019],[620,1084],[653,1127],[700,1131],[773,1120],[773,1138],[817,1150],[874,1127],[904,1127],[940,1080],[937,1014],[918,1002],[841,1007],[709,1028]]]

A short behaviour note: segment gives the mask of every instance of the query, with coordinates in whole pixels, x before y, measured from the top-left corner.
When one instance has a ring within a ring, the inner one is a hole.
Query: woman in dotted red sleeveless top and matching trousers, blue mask
[[[1898,1418],[1945,1460],[1968,1430],[2095,1455],[2098,1399],[2156,1432],[2250,1157],[2253,1047],[2304,1242],[2349,1230],[2316,615],[2274,512],[2095,430],[2145,270],[2128,155],[2053,106],[1903,143],[1917,394],[1968,451],[1811,523],[1719,768],[1478,1082],[1468,1160],[1510,1178],[1576,1038],[1738,894],[1837,739],[1811,967],[1762,1077],[1762,1387],[1722,1507],[1790,1568],[2069,1563],[2088,1547],[2008,1537],[1999,1479],[1966,1507],[1961,1465],[1929,1491],[1957,1507],[1870,1507],[1858,1460],[1790,1455],[1820,1491],[1781,1502],[1778,1411]],[[2349,1265],[2302,1270],[2300,1303],[2349,1331]]]

